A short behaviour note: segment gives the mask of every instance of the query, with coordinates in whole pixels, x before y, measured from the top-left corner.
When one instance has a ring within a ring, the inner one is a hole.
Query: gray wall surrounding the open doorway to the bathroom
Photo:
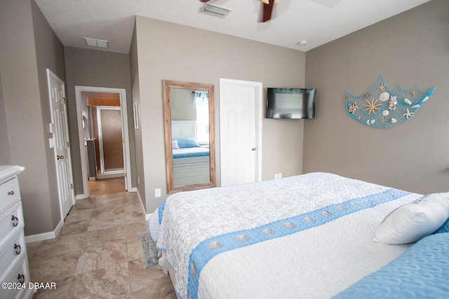
[[[76,118],[75,85],[101,88],[126,89],[128,104],[128,132],[130,142],[131,169],[135,169],[135,141],[133,130],[133,95],[131,94],[129,56],[100,50],[65,47],[67,70],[67,102],[69,113],[70,143],[72,146],[72,167],[75,194],[83,193],[81,155],[79,148],[78,123]],[[136,173],[131,174],[132,187],[137,186]]]

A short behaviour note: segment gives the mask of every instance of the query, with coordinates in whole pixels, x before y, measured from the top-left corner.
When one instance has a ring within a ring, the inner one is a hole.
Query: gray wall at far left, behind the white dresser
[[[9,135],[8,146],[0,147],[0,155],[9,159],[1,160],[25,167],[19,175],[25,235],[53,231],[60,208],[45,130],[51,123],[46,68],[65,80],[64,55],[34,1],[0,2],[0,65]]]

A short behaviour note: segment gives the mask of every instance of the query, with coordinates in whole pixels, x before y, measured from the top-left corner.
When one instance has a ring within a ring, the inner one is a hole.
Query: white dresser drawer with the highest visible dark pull
[[[22,232],[23,227],[22,205],[19,201],[0,214],[0,248],[12,235]]]

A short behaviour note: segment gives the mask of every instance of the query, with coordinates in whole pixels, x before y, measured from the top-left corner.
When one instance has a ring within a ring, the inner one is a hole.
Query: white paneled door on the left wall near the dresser
[[[47,78],[52,122],[49,125],[49,130],[53,133],[53,137],[50,139],[50,146],[53,146],[55,151],[61,217],[64,219],[74,204],[75,198],[72,177],[72,158],[70,156],[69,148],[65,84],[49,69],[47,69]]]

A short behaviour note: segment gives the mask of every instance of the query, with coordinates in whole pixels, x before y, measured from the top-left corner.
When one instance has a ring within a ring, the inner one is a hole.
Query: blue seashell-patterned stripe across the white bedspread
[[[198,244],[190,253],[187,298],[198,298],[201,270],[209,260],[220,253],[315,228],[342,216],[369,209],[384,202],[397,200],[409,194],[409,192],[402,190],[388,189],[382,193],[354,198],[340,204],[331,204],[315,211],[274,221],[257,228],[210,237]]]

